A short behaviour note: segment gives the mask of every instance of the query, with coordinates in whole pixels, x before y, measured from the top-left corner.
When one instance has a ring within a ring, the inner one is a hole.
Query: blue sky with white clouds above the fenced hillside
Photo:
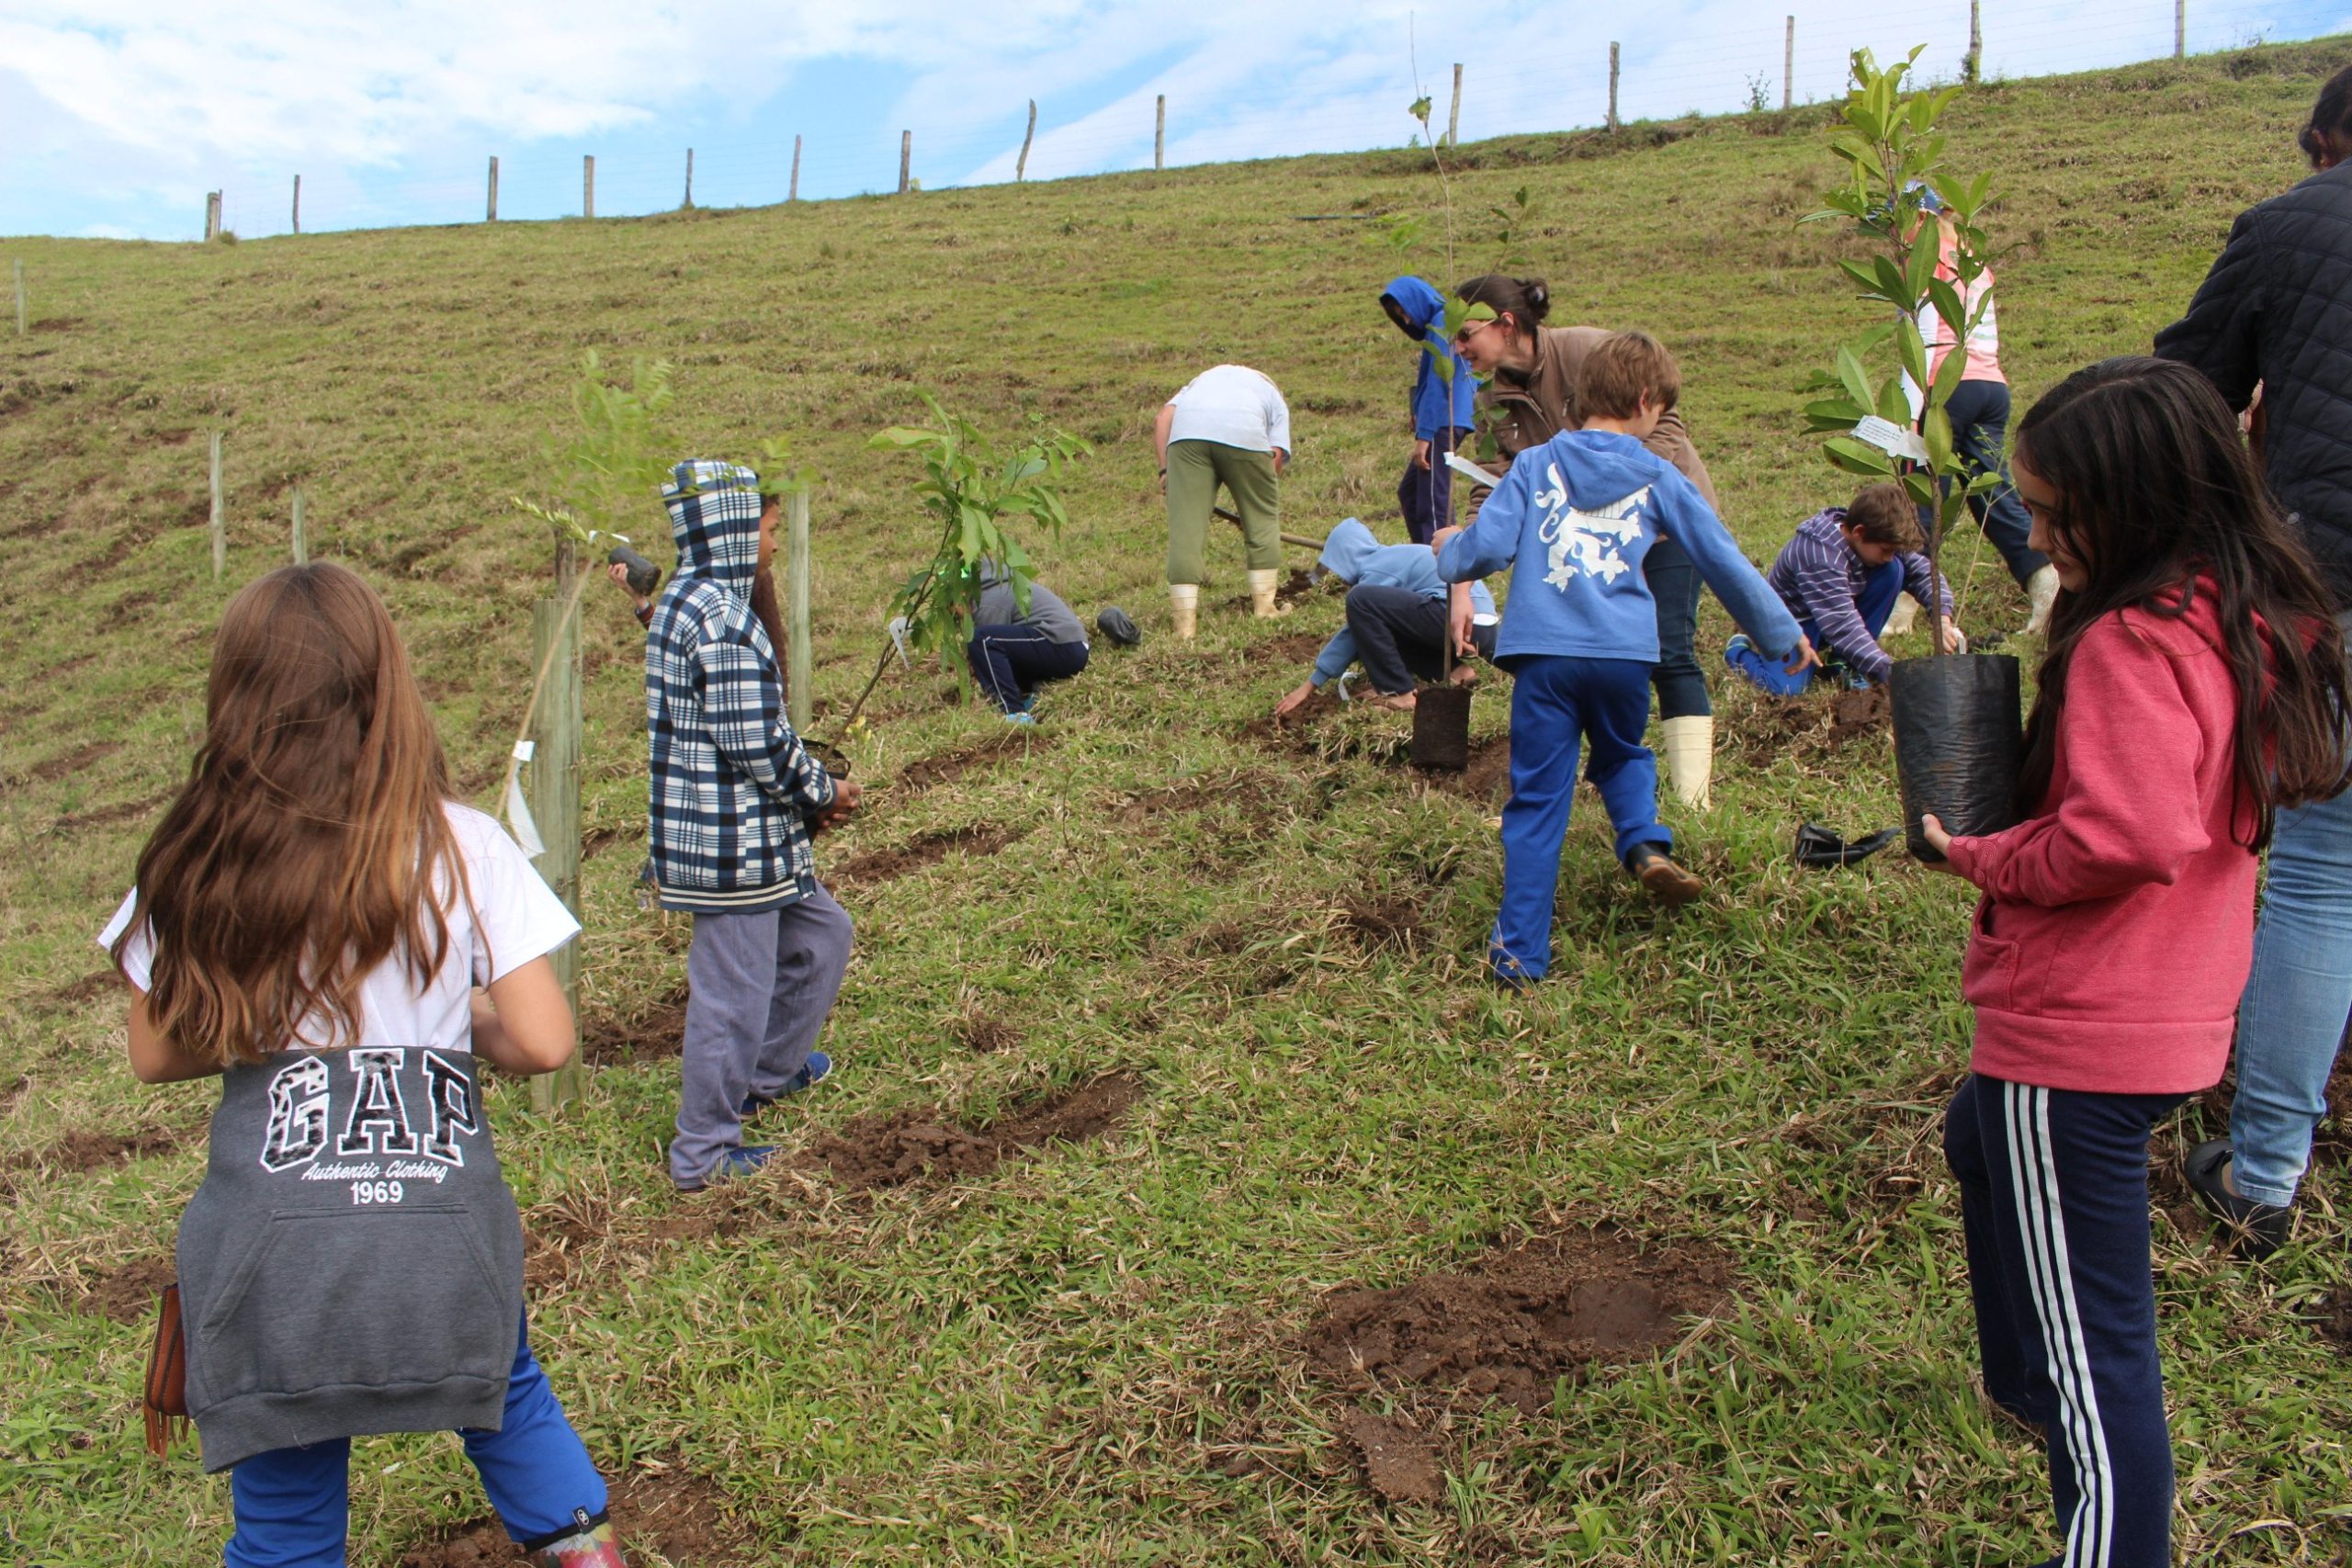
[[[1846,49],[1929,45],[1950,75],[1966,0],[7,0],[0,9],[0,233],[188,240],[205,193],[228,226],[475,221],[499,155],[503,219],[675,207],[687,148],[703,205],[889,190],[898,132],[924,186],[1404,143],[1461,61],[1463,139],[1595,125],[1609,42],[1625,118],[1842,87]],[[2042,75],[2171,52],[2173,0],[1985,0],[1985,71]],[[2187,0],[2190,49],[2352,31],[2352,0]]]

